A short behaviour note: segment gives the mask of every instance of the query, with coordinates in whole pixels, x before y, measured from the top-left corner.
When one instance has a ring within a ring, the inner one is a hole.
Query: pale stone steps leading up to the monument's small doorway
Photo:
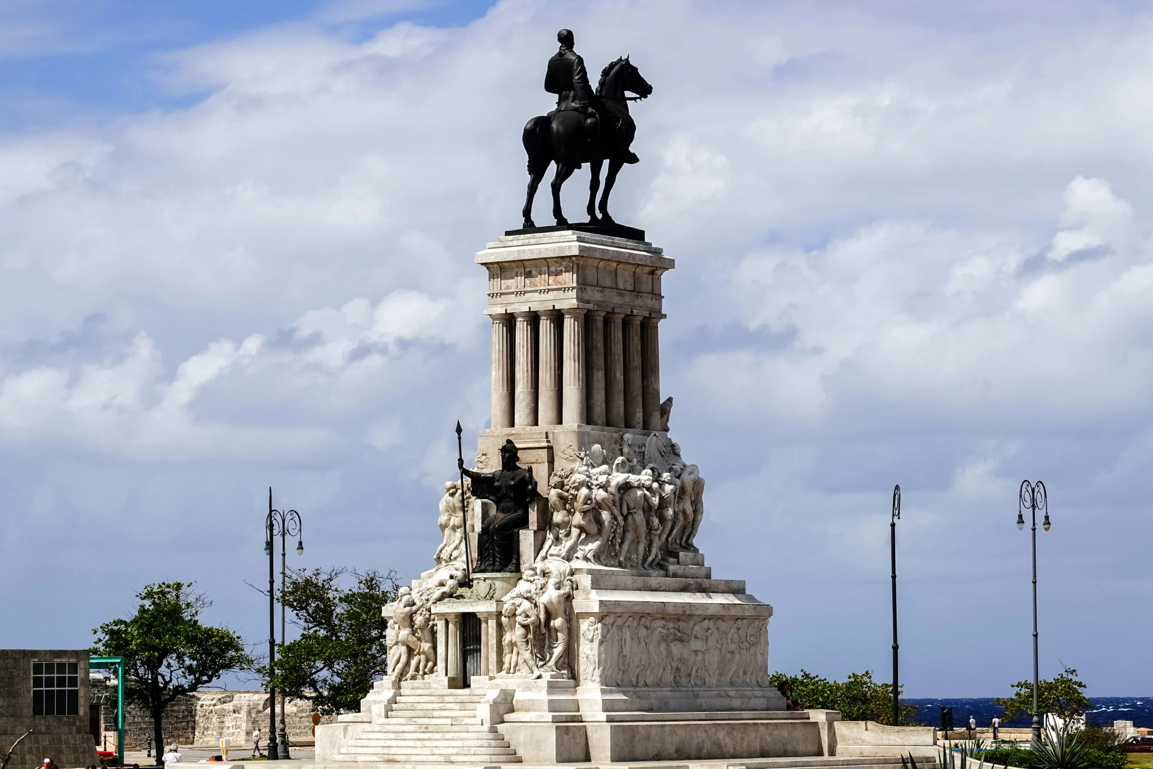
[[[407,686],[405,687],[407,688]],[[366,725],[340,748],[341,761],[398,764],[520,763],[496,726],[476,717],[483,692],[409,689],[397,695],[389,717]]]

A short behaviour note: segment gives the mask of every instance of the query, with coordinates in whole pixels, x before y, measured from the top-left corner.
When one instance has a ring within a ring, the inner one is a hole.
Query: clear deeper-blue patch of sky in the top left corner
[[[383,24],[460,27],[491,3],[316,2],[15,2],[0,10],[0,129],[43,129],[68,120],[188,106],[202,95],[156,77],[165,54],[276,24],[316,23],[347,39]]]

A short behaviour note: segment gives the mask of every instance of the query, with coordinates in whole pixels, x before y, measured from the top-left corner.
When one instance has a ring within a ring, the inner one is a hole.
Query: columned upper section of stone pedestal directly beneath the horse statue
[[[512,439],[543,488],[578,451],[619,451],[625,432],[639,445],[660,429],[656,324],[673,259],[650,243],[552,232],[503,236],[476,263],[493,319],[492,427],[477,469],[496,469]]]

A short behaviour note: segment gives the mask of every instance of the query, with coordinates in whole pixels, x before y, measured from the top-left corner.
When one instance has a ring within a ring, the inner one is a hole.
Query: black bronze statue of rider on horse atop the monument
[[[560,187],[581,164],[588,163],[591,172],[588,223],[612,226],[616,223],[609,216],[609,193],[612,191],[620,167],[638,161],[631,149],[636,135],[636,123],[628,114],[628,101],[648,97],[653,93],[653,86],[641,77],[628,56],[621,56],[601,71],[601,81],[596,91],[593,91],[585,60],[573,50],[573,33],[563,29],[557,32],[557,40],[560,50],[549,59],[549,69],[544,76],[544,90],[557,95],[557,108],[548,115],[533,118],[525,126],[528,197],[522,212],[523,226],[536,226],[533,224],[533,198],[551,163],[557,164],[552,176],[552,217],[557,224],[568,224],[560,211]],[[628,97],[626,93],[636,96]],[[609,161],[609,173],[597,205],[601,166],[605,160]]]

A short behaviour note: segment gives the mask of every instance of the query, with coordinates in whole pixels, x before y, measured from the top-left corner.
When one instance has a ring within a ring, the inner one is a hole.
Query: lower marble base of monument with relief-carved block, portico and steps
[[[699,552],[666,553],[655,570],[580,560],[568,567],[573,595],[560,670],[508,672],[500,619],[518,575],[474,574],[459,597],[430,609],[444,674],[378,683],[361,714],[317,727],[317,762],[828,755],[839,716],[785,710],[768,683],[773,608],[748,595],[743,580],[713,579]],[[461,629],[477,623],[478,654],[468,651]]]

